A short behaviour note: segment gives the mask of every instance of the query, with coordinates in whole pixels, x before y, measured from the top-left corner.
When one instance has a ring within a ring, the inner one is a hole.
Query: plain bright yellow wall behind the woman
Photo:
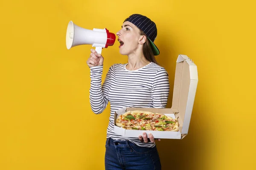
[[[0,170],[104,169],[110,108],[91,111],[92,47],[67,50],[66,29],[73,20],[116,33],[133,13],[157,23],[157,61],[171,89],[178,54],[198,66],[189,134],[157,142],[163,170],[256,169],[255,3],[9,0],[0,3]],[[127,62],[118,45],[102,51],[103,79],[112,64]]]

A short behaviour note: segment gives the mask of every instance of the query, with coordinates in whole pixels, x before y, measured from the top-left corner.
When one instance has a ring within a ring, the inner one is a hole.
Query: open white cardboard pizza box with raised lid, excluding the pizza
[[[120,114],[134,110],[162,113],[166,116],[176,118],[179,123],[179,130],[177,132],[126,130],[114,125],[115,133],[126,137],[138,137],[139,135],[142,135],[143,132],[146,132],[147,134],[152,133],[156,139],[183,139],[189,131],[189,123],[194,105],[197,84],[197,66],[186,55],[179,55],[175,71],[172,108],[122,108],[116,111],[114,118],[114,120],[116,120]]]

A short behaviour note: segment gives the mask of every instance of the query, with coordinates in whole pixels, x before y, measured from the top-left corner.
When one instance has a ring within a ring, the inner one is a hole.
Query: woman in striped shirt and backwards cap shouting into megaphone
[[[90,67],[90,104],[94,113],[104,111],[108,102],[111,115],[107,129],[106,170],[160,170],[161,164],[154,136],[143,133],[138,138],[114,133],[114,112],[124,107],[165,108],[169,96],[166,70],[157,65],[154,45],[157,27],[148,17],[133,14],[116,33],[119,52],[128,56],[128,63],[109,68],[103,85],[103,57],[91,49],[87,60]],[[149,139],[148,139],[149,137]]]

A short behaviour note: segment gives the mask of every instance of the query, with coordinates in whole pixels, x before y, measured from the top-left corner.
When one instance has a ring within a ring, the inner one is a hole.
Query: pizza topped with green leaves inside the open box
[[[128,111],[116,119],[116,126],[128,130],[178,131],[177,119],[149,111]]]

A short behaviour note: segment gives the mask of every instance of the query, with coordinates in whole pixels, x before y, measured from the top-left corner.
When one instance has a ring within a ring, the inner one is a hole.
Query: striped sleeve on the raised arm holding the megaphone
[[[90,68],[90,105],[95,114],[102,113],[108,105],[108,91],[111,87],[111,68],[102,85],[102,66]]]

